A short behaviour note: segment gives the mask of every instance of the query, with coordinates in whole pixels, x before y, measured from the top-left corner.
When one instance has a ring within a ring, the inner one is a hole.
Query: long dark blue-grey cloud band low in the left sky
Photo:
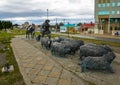
[[[46,10],[30,10],[26,12],[14,13],[14,12],[0,12],[1,18],[14,18],[14,17],[44,17],[47,16]],[[49,12],[49,16],[64,16],[63,13]]]

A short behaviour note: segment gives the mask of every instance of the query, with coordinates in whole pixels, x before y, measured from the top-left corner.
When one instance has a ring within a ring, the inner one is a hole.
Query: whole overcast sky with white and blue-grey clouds
[[[86,22],[94,19],[94,0],[0,0],[0,20],[41,24],[47,18],[56,22]]]

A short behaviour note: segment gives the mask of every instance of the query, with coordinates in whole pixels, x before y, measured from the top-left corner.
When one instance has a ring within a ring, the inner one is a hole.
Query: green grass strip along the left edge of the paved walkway
[[[0,65],[0,85],[25,85],[10,46],[10,40],[14,37],[14,35],[14,33],[0,31],[0,54],[5,54],[4,56],[1,56],[0,59],[0,62],[4,59],[4,62]],[[10,65],[14,66],[13,72],[1,72],[1,69],[5,65],[6,61],[8,61]]]

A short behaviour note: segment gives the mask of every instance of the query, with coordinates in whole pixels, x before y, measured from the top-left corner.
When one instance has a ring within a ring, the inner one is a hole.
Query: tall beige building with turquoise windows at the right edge
[[[99,34],[120,31],[120,0],[95,0],[95,28]]]

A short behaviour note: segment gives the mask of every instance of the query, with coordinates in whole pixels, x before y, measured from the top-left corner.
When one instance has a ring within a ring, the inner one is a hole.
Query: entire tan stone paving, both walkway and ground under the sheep
[[[24,37],[12,39],[12,48],[27,85],[119,85],[120,53],[112,63],[114,74],[99,71],[81,73],[78,58],[58,58]],[[70,56],[69,56],[70,57]],[[73,60],[75,59],[75,62]]]

